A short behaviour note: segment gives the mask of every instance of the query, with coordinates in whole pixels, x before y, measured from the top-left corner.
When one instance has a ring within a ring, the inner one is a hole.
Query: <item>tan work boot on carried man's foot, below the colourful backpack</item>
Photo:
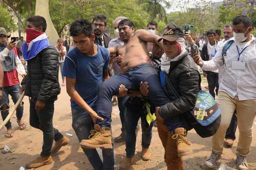
[[[187,140],[187,132],[184,128],[176,128],[175,134],[172,136],[173,139],[177,139],[177,150],[178,156],[186,156],[192,154],[190,142]]]

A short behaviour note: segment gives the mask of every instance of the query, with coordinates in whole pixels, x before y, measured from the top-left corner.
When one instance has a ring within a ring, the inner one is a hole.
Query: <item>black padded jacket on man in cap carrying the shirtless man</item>
[[[193,58],[188,56],[187,53],[180,56],[176,61],[170,62],[170,70],[167,77],[178,92],[179,98],[175,98],[174,92],[170,90],[165,81],[164,90],[172,102],[163,105],[159,109],[159,114],[164,119],[173,118],[193,109],[201,83],[201,76],[197,66]]]

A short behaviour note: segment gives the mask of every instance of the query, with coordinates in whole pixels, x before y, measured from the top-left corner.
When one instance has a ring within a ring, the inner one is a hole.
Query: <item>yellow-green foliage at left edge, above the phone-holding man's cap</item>
[[[7,32],[11,32],[17,29],[11,14],[7,10],[7,6],[0,4],[0,27],[4,27]]]

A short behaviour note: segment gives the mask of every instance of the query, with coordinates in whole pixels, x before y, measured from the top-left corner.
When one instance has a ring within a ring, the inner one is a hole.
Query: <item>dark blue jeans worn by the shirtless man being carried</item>
[[[154,66],[143,63],[130,69],[121,75],[115,75],[103,82],[99,87],[96,111],[104,120],[97,120],[99,126],[111,127],[112,96],[118,94],[119,86],[123,84],[129,90],[139,90],[140,82],[148,82],[149,98],[155,106],[163,106],[170,103],[170,99],[164,93]],[[179,119],[179,117],[178,117]],[[172,119],[168,120],[172,123]],[[182,126],[182,122],[180,121]]]

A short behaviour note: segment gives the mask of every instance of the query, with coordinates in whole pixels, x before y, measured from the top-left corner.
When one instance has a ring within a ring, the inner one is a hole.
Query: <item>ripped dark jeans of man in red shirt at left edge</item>
[[[5,118],[9,114],[9,109],[2,110],[2,106],[4,104],[6,104],[6,106],[8,108],[10,107],[10,105],[9,105],[9,94],[11,95],[12,101],[15,104],[18,101],[19,97],[20,97],[20,86],[19,86],[19,84],[3,88],[3,98],[1,99],[1,102],[0,102],[1,115],[2,115],[3,120],[5,120]],[[16,117],[17,117],[18,120],[20,120],[20,119],[22,119],[22,116],[23,116],[23,103],[20,103],[20,105],[18,106],[18,108],[16,110]],[[10,120],[7,122],[5,127],[7,129],[10,129],[12,127]]]

